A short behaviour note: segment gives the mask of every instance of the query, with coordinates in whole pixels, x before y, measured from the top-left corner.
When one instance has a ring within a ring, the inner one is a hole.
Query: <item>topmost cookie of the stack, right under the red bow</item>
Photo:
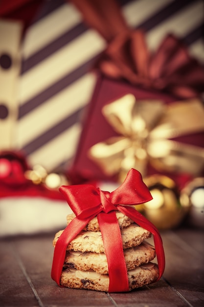
[[[128,216],[126,216],[122,212],[115,211],[115,213],[116,213],[116,218],[118,220],[118,224],[119,224],[120,229],[123,229],[123,228],[129,226],[130,224],[134,223],[133,220],[131,220]],[[68,214],[68,216],[67,216],[67,225],[73,220],[74,217],[75,217],[74,213]],[[98,225],[97,217],[94,217],[89,222],[89,224],[85,227],[84,230],[100,231],[100,227]]]

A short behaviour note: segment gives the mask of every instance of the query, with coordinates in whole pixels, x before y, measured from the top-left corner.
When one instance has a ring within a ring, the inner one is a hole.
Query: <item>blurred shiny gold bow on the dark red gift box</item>
[[[132,94],[105,105],[102,114],[119,134],[91,147],[89,155],[107,176],[123,181],[131,168],[146,175],[147,164],[158,170],[197,175],[204,167],[204,148],[172,138],[204,131],[204,107],[191,99],[166,105],[136,101]]]

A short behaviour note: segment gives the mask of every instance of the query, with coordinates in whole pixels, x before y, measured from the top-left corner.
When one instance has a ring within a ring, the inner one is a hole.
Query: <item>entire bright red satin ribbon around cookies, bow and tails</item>
[[[58,285],[60,285],[68,243],[97,215],[108,261],[109,292],[129,291],[121,232],[115,210],[129,216],[139,226],[149,230],[154,235],[159,265],[158,280],[160,279],[165,267],[165,257],[159,231],[141,213],[130,207],[130,205],[143,204],[152,199],[138,171],[131,169],[122,185],[111,193],[101,191],[90,184],[62,186],[60,191],[76,217],[63,231],[55,245],[51,277]]]

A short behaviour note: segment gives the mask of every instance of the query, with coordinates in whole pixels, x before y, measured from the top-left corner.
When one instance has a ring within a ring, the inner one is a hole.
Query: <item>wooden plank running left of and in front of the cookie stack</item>
[[[107,306],[113,307],[103,292],[59,287],[52,281],[53,235],[35,236],[15,241],[15,249],[22,259],[26,273],[40,298],[40,306]],[[19,305],[21,306],[21,305]]]

